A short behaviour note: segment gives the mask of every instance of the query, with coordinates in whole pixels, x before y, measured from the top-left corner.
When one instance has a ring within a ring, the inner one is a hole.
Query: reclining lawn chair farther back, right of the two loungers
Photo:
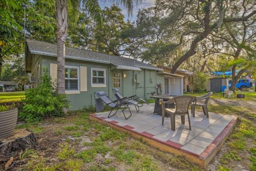
[[[130,104],[133,104],[135,106],[135,109],[137,112],[139,112],[140,111],[139,108],[143,106],[143,103],[141,103],[141,101],[146,103],[145,100],[143,100],[142,98],[139,98],[136,95],[133,95],[130,97],[123,97],[118,89],[112,89],[112,91],[118,100],[125,100],[125,101],[129,102]]]

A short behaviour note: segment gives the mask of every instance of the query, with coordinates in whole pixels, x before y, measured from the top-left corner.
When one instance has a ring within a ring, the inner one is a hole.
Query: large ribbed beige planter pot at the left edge
[[[18,109],[0,112],[0,139],[12,135],[18,118]]]

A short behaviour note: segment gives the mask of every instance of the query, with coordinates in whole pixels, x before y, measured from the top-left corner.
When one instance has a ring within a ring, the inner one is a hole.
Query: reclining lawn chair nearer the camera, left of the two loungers
[[[124,100],[119,100],[119,99],[112,101],[108,96],[106,96],[105,92],[103,92],[103,91],[95,92],[94,93],[94,98],[95,98],[95,95],[97,95],[99,97],[99,99],[101,99],[106,105],[110,106],[111,111],[108,115],[108,118],[116,115],[116,113],[119,109],[122,111],[123,116],[124,116],[125,119],[128,119],[132,116],[132,113],[131,113],[130,108],[129,108],[129,102],[124,101]],[[95,101],[96,101],[96,98],[95,98]],[[96,104],[96,106],[97,106],[97,104]],[[115,114],[111,115],[111,113],[114,109],[116,109],[116,112],[115,112]],[[129,111],[130,111],[131,115],[129,117],[126,117],[124,112],[123,112],[126,109],[129,109]]]

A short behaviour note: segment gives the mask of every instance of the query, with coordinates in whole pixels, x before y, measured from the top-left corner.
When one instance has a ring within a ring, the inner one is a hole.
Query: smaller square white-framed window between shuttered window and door
[[[91,76],[92,76],[92,86],[94,87],[106,86],[106,70],[105,69],[92,68]]]

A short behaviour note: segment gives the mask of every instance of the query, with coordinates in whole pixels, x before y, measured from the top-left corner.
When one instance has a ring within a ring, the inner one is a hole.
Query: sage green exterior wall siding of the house
[[[41,56],[41,70],[47,67],[50,70],[50,63],[57,63],[57,57]],[[121,87],[118,88],[124,97],[137,95],[143,99],[148,99],[152,92],[156,92],[156,84],[162,84],[162,91],[164,90],[164,77],[157,74],[155,70],[142,69],[141,71],[121,70],[115,69],[115,66],[107,63],[97,63],[91,61],[82,61],[74,59],[66,59],[66,66],[83,66],[87,67],[87,91],[80,92],[79,94],[68,94],[67,98],[70,100],[69,110],[82,109],[84,106],[95,105],[94,92],[104,91],[115,99],[112,89],[113,73],[121,74]],[[34,68],[35,66],[32,66]],[[91,68],[100,68],[106,70],[106,87],[92,87],[91,86]],[[123,75],[126,74],[124,78]],[[137,75],[137,83],[133,82]],[[54,80],[53,80],[54,81]]]

